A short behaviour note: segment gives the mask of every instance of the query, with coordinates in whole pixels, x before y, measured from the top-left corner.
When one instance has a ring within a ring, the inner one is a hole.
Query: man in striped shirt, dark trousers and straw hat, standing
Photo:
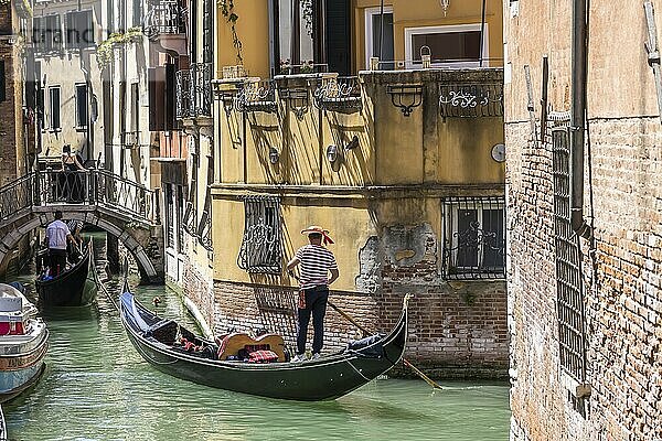
[[[329,286],[339,276],[335,257],[325,247],[333,244],[333,240],[329,237],[329,230],[319,226],[310,226],[301,230],[301,234],[308,236],[309,244],[299,248],[295,257],[287,263],[290,276],[293,276],[292,270],[295,267],[300,266],[297,355],[292,362],[306,359],[306,338],[311,314],[314,331],[312,358],[319,358],[324,340],[324,314],[327,313]],[[329,277],[329,273],[331,277]]]

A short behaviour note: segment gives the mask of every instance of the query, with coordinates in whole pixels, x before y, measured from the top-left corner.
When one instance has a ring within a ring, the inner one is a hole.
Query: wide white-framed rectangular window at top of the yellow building
[[[482,39],[480,30],[480,23],[405,29],[407,68],[420,65],[423,46],[430,49],[433,66],[479,67],[488,57],[488,25]]]

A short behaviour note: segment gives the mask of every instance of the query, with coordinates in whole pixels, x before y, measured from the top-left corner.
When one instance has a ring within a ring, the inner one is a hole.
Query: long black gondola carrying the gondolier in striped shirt
[[[161,319],[130,292],[120,297],[121,322],[138,353],[157,369],[220,389],[301,401],[342,397],[397,364],[407,342],[407,298],[391,331],[349,344],[346,349],[300,363],[246,363],[218,359],[218,345],[195,336],[177,322]],[[199,352],[177,344],[186,338]]]

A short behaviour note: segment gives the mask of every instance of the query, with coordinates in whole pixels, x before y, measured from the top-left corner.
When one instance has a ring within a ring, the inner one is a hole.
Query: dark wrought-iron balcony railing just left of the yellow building
[[[175,74],[177,119],[212,117],[212,63],[194,63]]]

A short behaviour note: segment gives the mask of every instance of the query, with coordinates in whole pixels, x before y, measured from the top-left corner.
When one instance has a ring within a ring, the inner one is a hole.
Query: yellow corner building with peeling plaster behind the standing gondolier
[[[504,374],[501,3],[322,3],[214,9],[214,148],[193,198],[213,254],[188,252],[185,292],[217,332],[291,337],[284,267],[322,225],[339,308],[386,331],[414,293],[408,356]],[[357,334],[328,322],[328,348]]]

